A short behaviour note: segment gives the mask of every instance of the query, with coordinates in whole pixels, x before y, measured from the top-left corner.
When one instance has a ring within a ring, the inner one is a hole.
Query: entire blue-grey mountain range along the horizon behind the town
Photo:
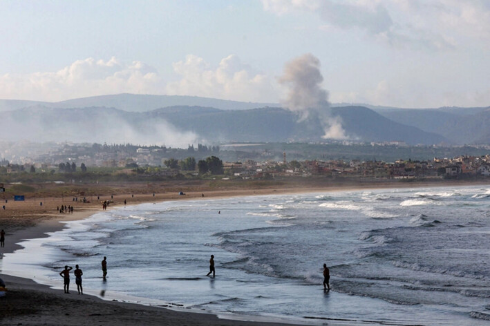
[[[64,102],[0,100],[3,140],[171,144],[321,142],[336,117],[348,139],[490,144],[490,108],[332,106],[301,117],[277,104],[167,95],[104,95]]]

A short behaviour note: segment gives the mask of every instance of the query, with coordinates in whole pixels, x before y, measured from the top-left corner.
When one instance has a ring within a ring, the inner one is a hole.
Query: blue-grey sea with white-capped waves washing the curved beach
[[[78,264],[84,291],[108,300],[313,325],[490,325],[490,186],[138,204],[22,245],[3,273],[62,288]]]

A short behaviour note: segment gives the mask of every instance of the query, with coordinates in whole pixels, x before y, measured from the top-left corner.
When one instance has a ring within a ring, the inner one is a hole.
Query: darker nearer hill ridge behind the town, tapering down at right
[[[353,140],[404,141],[407,144],[448,142],[435,133],[406,126],[361,106],[328,109],[341,117]],[[117,108],[52,108],[42,105],[2,113],[3,140],[37,142],[111,142],[178,144],[195,142],[319,142],[323,128],[317,117],[298,122],[283,108],[220,110],[171,106],[142,113]]]

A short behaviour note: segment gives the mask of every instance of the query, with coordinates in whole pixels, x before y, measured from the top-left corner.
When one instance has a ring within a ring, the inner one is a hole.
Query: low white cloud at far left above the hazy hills
[[[75,97],[113,93],[158,93],[162,79],[158,72],[133,61],[122,64],[88,58],[77,60],[55,72],[0,76],[0,98],[59,101]]]

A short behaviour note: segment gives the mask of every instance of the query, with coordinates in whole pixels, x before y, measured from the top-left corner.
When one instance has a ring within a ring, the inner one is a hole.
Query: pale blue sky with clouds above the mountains
[[[490,106],[489,53],[489,0],[0,1],[1,99],[277,103],[306,55],[331,103]]]

